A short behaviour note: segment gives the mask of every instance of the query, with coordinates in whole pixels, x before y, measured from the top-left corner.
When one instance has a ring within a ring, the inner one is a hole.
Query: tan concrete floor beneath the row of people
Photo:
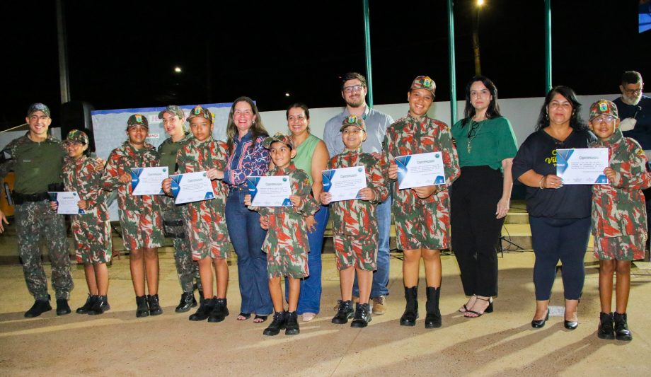
[[[400,254],[391,258],[388,311],[369,327],[333,325],[339,296],[332,254],[323,255],[321,314],[301,323],[301,334],[264,337],[267,323],[236,320],[240,297],[237,267],[231,260],[228,293],[231,315],[223,323],[193,323],[174,313],[180,287],[172,251],[161,250],[160,296],[163,315],[135,317],[128,257],[110,267],[111,311],[78,315],[85,301],[83,269],[73,265],[73,313],[54,311],[23,318],[33,303],[19,265],[0,266],[0,376],[648,376],[651,325],[645,303],[651,271],[633,269],[628,318],[633,342],[599,340],[597,268],[587,254],[587,277],[580,304],[580,326],[565,330],[561,316],[533,330],[534,286],[531,252],[500,258],[500,296],[495,312],[466,319],[456,311],[465,302],[454,256],[443,257],[443,327],[425,330],[424,282],[421,319],[398,325],[404,298]],[[48,277],[50,266],[45,266]],[[560,274],[552,305],[562,306]]]

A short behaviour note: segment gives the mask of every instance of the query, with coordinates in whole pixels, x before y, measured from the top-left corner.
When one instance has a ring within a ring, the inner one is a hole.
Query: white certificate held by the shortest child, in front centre
[[[292,207],[289,196],[289,175],[265,175],[246,177],[246,185],[251,195],[251,205],[255,207]]]

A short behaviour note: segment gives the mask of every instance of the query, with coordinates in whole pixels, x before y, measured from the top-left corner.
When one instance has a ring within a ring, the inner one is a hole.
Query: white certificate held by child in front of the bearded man
[[[333,202],[359,199],[359,190],[367,187],[364,166],[323,170],[321,174],[323,175],[323,191],[330,192]]]

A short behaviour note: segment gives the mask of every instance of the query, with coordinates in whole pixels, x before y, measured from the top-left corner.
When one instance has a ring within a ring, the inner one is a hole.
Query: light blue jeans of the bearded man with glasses
[[[388,295],[388,263],[391,257],[388,244],[391,236],[391,195],[377,206],[377,222],[379,228],[377,269],[373,272],[371,298]],[[352,295],[359,297],[357,274],[355,274],[355,283],[352,286]]]

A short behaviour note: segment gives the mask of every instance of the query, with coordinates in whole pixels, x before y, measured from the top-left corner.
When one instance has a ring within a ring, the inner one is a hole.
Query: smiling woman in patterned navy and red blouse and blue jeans
[[[234,100],[226,127],[229,158],[224,182],[229,185],[226,199],[226,225],[237,254],[238,280],[242,305],[238,320],[267,320],[273,312],[267,284],[267,257],[262,251],[267,231],[260,228],[260,214],[244,205],[248,194],[246,177],[264,175],[269,169],[269,152],[263,148],[268,136],[258,108],[248,97]]]

